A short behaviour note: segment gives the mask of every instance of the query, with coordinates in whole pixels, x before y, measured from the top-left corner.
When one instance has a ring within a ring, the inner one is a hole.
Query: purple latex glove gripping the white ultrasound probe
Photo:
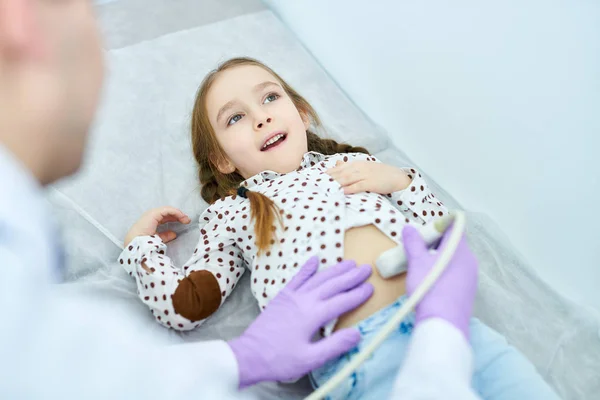
[[[408,258],[406,292],[410,296],[433,268],[440,252],[446,247],[449,228],[438,247],[430,251],[412,226],[402,231]],[[428,318],[442,318],[458,328],[469,340],[469,320],[477,292],[477,260],[463,236],[446,269],[415,308],[416,324]]]

